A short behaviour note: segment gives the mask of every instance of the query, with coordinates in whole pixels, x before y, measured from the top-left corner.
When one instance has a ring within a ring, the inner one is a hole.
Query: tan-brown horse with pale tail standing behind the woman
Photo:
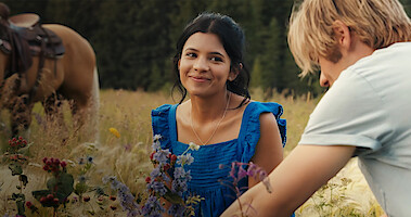
[[[0,30],[11,30],[11,18],[1,18],[3,22],[0,23]],[[33,25],[30,22],[29,20],[28,24],[20,25],[23,28],[24,25],[29,27]],[[12,135],[16,136],[22,129],[28,129],[36,102],[42,102],[47,119],[61,123],[64,118],[59,108],[60,99],[65,99],[73,102],[70,107],[74,123],[77,125],[75,129],[85,132],[82,135],[90,136],[92,132],[97,136],[99,79],[92,47],[79,34],[63,25],[48,24],[41,27],[60,37],[64,54],[54,58],[34,55],[30,58],[30,65],[24,72],[10,72],[12,56],[0,51],[0,108],[3,106],[11,111]],[[7,73],[14,74],[5,78]]]

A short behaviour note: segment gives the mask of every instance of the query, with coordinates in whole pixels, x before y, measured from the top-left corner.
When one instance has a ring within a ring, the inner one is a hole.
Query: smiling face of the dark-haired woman
[[[231,60],[215,34],[195,33],[185,41],[179,61],[181,84],[191,95],[226,91],[226,81],[235,78]]]

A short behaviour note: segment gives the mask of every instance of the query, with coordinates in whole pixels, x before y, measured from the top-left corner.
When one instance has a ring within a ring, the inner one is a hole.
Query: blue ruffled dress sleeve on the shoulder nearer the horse
[[[168,124],[168,117],[172,105],[164,104],[151,112],[153,136],[160,135],[162,149],[170,149],[170,126]]]

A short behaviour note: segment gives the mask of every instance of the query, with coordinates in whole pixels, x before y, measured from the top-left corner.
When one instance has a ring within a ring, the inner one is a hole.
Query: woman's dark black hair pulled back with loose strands
[[[178,62],[181,59],[181,53],[185,41],[190,38],[190,36],[196,33],[215,34],[220,38],[222,46],[231,60],[230,69],[239,72],[239,75],[234,80],[227,80],[227,89],[231,92],[244,97],[244,100],[239,105],[239,107],[242,106],[251,99],[248,92],[249,72],[246,64],[244,63],[244,31],[240,25],[235,23],[231,17],[210,12],[201,13],[197,17],[191,21],[185,26],[179,40],[177,41],[177,53],[174,58],[174,73],[177,77],[176,82],[172,87],[172,91],[177,89],[181,93],[179,103],[182,103],[185,99],[187,89],[182,86],[180,80]]]

